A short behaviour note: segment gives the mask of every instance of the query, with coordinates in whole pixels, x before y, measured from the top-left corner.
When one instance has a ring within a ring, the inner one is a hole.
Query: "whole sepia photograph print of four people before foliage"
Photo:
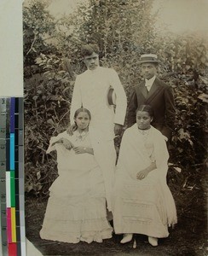
[[[42,255],[207,254],[206,0],[25,0],[26,238]]]

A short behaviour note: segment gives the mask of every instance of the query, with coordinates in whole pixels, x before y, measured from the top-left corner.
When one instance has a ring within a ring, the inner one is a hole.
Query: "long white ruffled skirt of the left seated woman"
[[[101,242],[111,238],[113,232],[107,221],[106,193],[101,169],[93,163],[93,156],[90,154],[74,157],[77,164],[81,165],[78,170],[67,170],[66,155],[63,159],[65,162],[58,157],[61,162],[58,166],[60,176],[49,189],[50,197],[40,236],[43,239],[70,243]],[[84,166],[89,164],[91,169],[86,170]]]

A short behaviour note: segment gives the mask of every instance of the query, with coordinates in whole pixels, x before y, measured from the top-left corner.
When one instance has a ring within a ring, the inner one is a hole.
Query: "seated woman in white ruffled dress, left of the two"
[[[90,137],[90,118],[89,110],[79,108],[74,115],[77,130],[73,135],[64,131],[50,140],[47,153],[57,151],[59,177],[49,188],[49,201],[40,231],[42,239],[90,243],[112,237],[106,208],[111,210],[110,197],[107,199],[107,193],[111,193],[108,191],[111,176],[107,173],[109,168],[103,174],[107,165],[98,164],[101,161],[97,151],[105,152],[105,148],[102,148],[101,137],[100,141]]]

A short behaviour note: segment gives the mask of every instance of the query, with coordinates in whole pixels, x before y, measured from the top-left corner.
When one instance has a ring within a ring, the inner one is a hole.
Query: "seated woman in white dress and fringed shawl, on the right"
[[[169,154],[166,137],[150,125],[153,109],[142,105],[136,124],[124,131],[114,187],[113,226],[120,241],[133,234],[148,236],[152,246],[169,236],[168,226],[176,224],[176,206],[166,183]]]

